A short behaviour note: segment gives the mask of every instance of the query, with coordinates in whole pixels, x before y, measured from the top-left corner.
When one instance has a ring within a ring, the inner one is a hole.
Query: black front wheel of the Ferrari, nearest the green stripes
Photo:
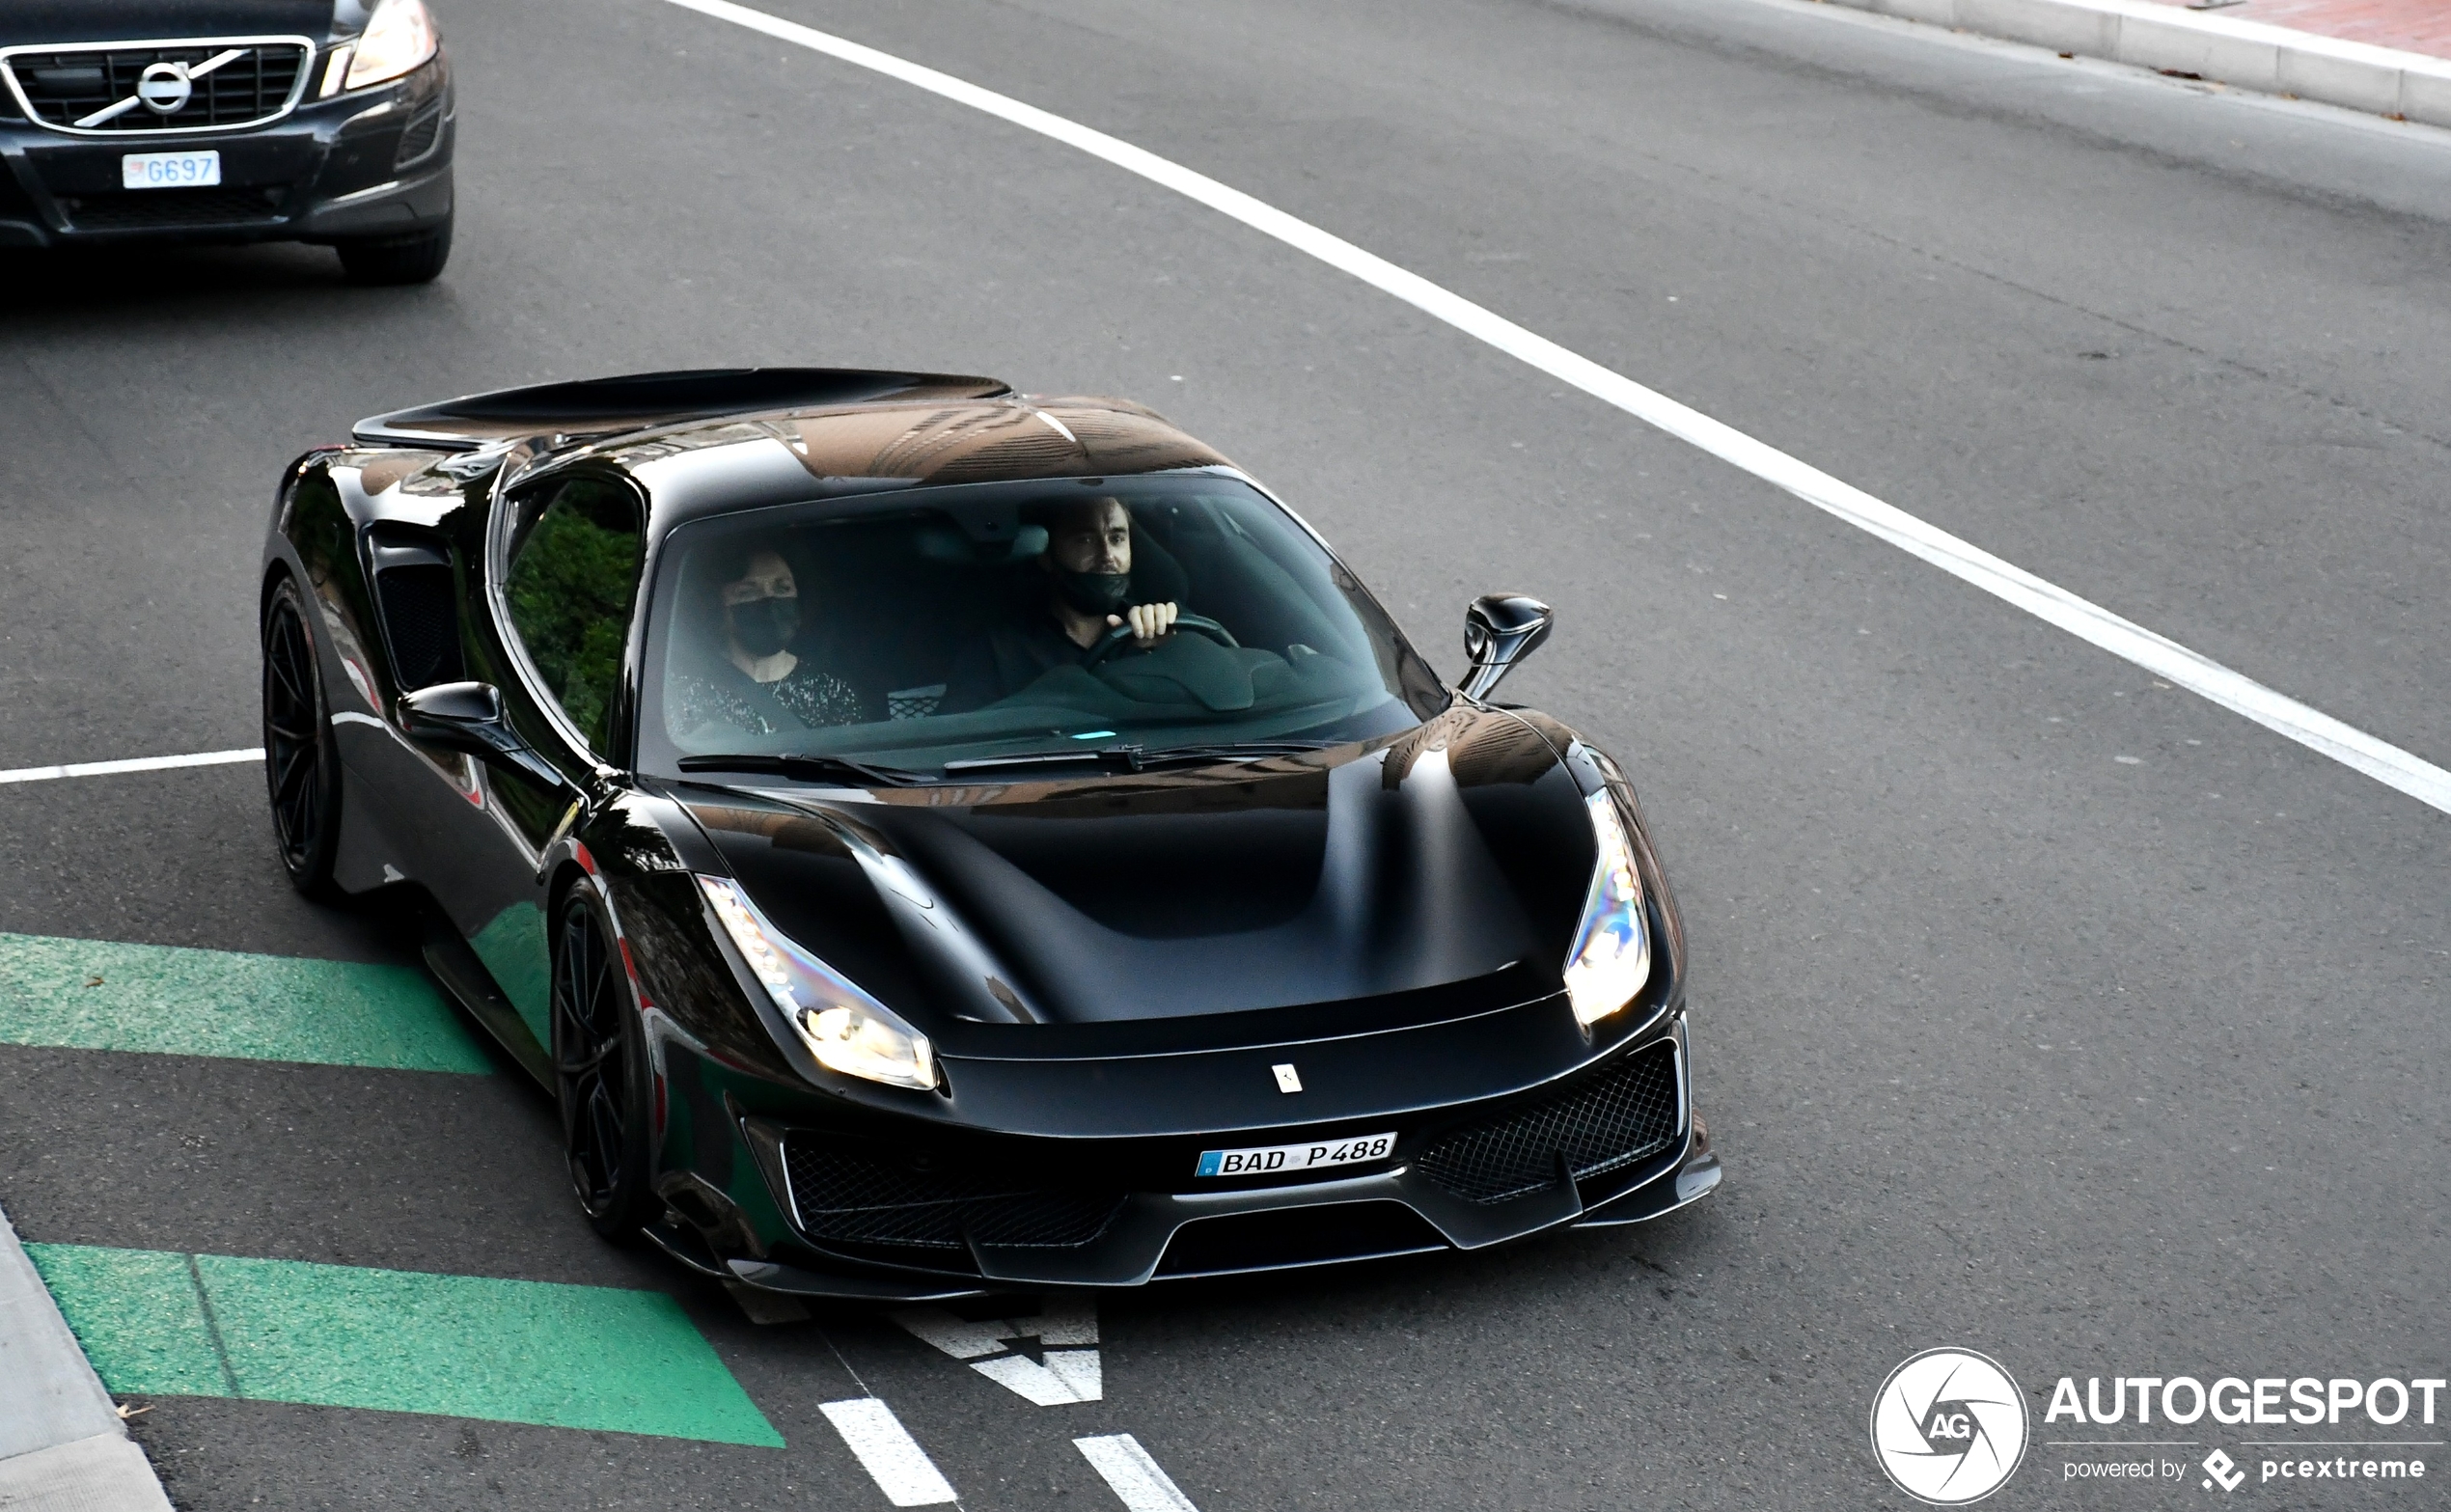
[[[554,929],[554,1100],[571,1191],[588,1223],[623,1238],[647,1220],[647,1044],[593,882]]]

